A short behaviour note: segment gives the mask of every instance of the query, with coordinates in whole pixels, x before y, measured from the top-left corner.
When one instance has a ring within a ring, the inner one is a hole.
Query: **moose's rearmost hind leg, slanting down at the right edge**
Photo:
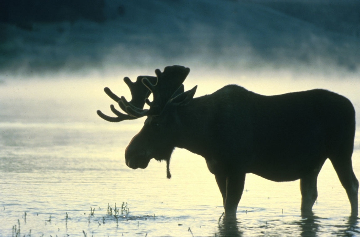
[[[347,193],[351,205],[351,216],[357,217],[357,191],[359,189],[359,181],[357,181],[354,171],[352,170],[351,159],[334,160],[330,158],[330,160]]]

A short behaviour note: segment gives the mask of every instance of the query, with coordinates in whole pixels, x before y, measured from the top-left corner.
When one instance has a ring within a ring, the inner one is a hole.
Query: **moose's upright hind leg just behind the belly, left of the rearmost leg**
[[[308,174],[300,179],[301,214],[312,215],[312,206],[318,198],[317,179],[319,171]]]

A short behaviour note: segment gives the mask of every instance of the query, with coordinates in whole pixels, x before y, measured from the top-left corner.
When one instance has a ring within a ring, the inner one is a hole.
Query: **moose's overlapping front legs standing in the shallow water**
[[[222,195],[225,218],[235,219],[236,210],[244,190],[245,173],[215,176],[215,179]]]

